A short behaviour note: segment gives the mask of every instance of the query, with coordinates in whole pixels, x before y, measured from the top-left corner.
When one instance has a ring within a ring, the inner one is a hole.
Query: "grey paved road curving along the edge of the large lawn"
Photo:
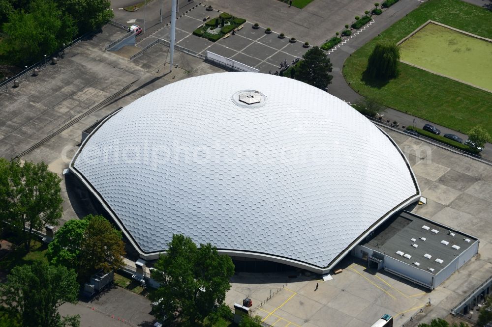
[[[407,0],[397,2],[396,4],[388,8],[385,12],[383,12],[381,16],[374,17],[374,22],[369,28],[361,31],[352,39],[349,38],[348,42],[340,46],[333,53],[329,54],[329,57],[333,63],[333,80],[332,84],[328,85],[328,92],[340,99],[351,103],[362,99],[363,97],[355,92],[343,78],[343,63],[350,56],[350,54],[372,40],[379,33],[399,21],[407,13],[417,8],[422,2],[422,0]],[[485,2],[485,0],[467,0],[467,2],[476,4],[476,2]],[[415,117],[391,108],[388,108],[384,111],[384,118],[390,121],[396,120],[400,123],[400,126],[415,124],[417,127],[422,128],[422,126],[424,126],[425,124],[430,123],[436,126],[441,131],[441,135],[451,133],[460,136],[464,140],[468,138],[465,134],[461,132],[451,130],[447,127],[434,124],[419,117]],[[492,144],[487,143],[486,147],[482,151],[482,156],[488,159],[492,159]]]

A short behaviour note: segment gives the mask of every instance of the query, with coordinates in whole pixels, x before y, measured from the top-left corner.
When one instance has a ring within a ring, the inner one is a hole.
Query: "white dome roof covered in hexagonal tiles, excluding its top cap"
[[[236,105],[241,90],[266,104]],[[399,150],[356,110],[259,73],[155,90],[100,126],[72,164],[143,252],[181,233],[318,267],[419,192]]]

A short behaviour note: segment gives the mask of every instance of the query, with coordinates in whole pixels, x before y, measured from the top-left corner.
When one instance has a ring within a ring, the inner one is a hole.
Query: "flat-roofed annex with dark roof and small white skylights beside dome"
[[[352,250],[369,269],[384,269],[434,289],[478,253],[476,237],[402,212]]]

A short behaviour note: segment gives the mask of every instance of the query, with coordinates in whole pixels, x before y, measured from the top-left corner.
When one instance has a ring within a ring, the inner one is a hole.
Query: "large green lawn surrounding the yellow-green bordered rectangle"
[[[465,133],[482,124],[492,134],[490,92],[403,63],[400,76],[387,83],[363,80],[376,42],[397,43],[428,20],[492,38],[492,24],[484,23],[492,21],[491,11],[461,0],[430,0],[353,53],[344,64],[345,79],[355,91],[378,98],[387,107]]]

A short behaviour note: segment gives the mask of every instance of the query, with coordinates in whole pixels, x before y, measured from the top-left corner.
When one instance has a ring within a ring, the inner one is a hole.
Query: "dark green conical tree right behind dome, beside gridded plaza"
[[[331,72],[332,63],[328,55],[320,48],[312,47],[297,64],[295,79],[325,90],[333,79]]]

